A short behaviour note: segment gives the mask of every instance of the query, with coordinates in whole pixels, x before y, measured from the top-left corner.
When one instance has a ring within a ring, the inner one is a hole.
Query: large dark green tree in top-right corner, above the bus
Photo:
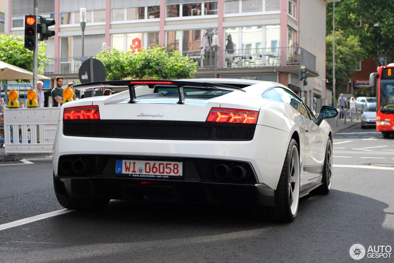
[[[390,54],[394,62],[392,19],[394,2],[383,0],[342,0],[335,3],[335,30],[344,37],[360,39],[364,57],[374,58],[380,65],[378,53]],[[379,26],[376,26],[376,25]],[[375,25],[375,26],[374,26]],[[327,34],[333,31],[333,3],[327,4]]]

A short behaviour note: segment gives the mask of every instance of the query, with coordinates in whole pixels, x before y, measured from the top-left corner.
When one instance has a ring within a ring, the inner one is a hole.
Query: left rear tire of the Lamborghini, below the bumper
[[[82,211],[100,211],[110,202],[109,199],[79,198],[58,194],[56,194],[56,198],[62,207]]]

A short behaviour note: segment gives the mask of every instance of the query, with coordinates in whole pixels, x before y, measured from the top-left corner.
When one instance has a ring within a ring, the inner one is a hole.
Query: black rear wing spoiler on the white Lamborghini
[[[187,103],[183,88],[206,88],[206,89],[218,89],[218,90],[230,90],[230,91],[243,91],[241,88],[229,86],[225,84],[209,83],[209,82],[197,82],[197,81],[184,81],[184,80],[112,80],[112,81],[96,81],[85,84],[75,85],[76,90],[85,89],[96,89],[96,88],[109,88],[109,87],[128,87],[130,93],[130,101],[128,103],[136,103],[138,99],[136,97],[136,86],[149,86],[149,88],[155,88],[158,86],[172,86],[178,88],[179,101],[178,104]]]

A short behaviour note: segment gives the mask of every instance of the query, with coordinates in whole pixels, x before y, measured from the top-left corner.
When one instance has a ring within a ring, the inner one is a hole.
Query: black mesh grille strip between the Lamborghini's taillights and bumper
[[[64,120],[66,136],[152,139],[250,141],[256,125],[193,121]]]

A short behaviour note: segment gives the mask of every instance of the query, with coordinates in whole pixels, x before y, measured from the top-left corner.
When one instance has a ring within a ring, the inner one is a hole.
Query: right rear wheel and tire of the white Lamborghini
[[[274,191],[274,207],[261,207],[260,218],[267,221],[292,222],[299,203],[300,162],[296,140],[290,140],[286,158]]]

